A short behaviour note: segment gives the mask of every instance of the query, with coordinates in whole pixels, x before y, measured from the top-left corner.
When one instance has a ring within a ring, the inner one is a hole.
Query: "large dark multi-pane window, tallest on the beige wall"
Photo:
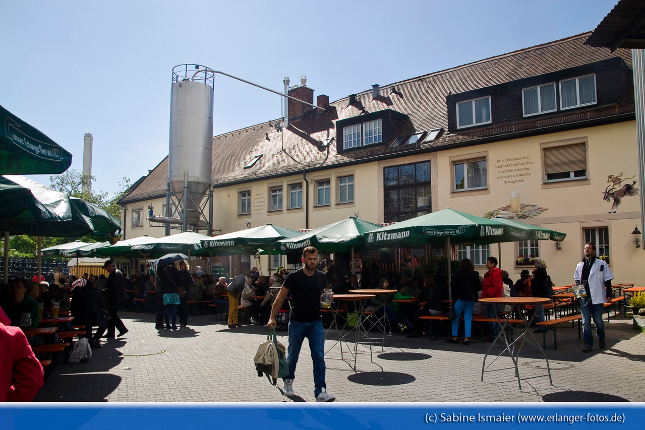
[[[399,222],[432,211],[430,161],[383,169],[385,222]]]

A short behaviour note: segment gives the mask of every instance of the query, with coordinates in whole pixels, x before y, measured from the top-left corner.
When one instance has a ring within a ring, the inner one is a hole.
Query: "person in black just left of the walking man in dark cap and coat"
[[[90,346],[101,347],[101,336],[108,329],[108,320],[105,318],[103,309],[106,308],[103,293],[96,288],[96,282],[92,279],[87,284],[76,290],[72,298],[72,310],[70,311],[76,324],[85,326],[85,338]],[[92,327],[96,326],[96,333],[92,337]]]

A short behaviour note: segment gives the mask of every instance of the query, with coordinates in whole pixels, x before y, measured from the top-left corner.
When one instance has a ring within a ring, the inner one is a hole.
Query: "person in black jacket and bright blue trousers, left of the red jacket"
[[[464,314],[464,345],[470,345],[470,331],[473,320],[473,308],[477,302],[477,291],[481,291],[482,284],[479,273],[475,271],[473,262],[469,259],[461,260],[461,268],[455,271],[455,276],[450,282],[452,300],[455,304],[455,319],[452,320],[452,338],[446,340],[449,344],[457,344],[459,334],[459,319]]]

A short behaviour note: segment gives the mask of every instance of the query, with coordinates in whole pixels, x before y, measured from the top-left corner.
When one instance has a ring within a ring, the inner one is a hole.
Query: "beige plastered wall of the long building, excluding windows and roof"
[[[558,183],[544,183],[542,151],[552,145],[584,142],[587,148],[587,179]],[[471,158],[487,160],[487,184],[485,190],[452,191],[453,163]],[[513,159],[513,161],[508,161]],[[617,213],[608,213],[611,204],[602,200],[608,175],[624,172],[623,178],[637,175],[637,149],[635,122],[619,122],[604,126],[548,133],[502,142],[491,142],[438,153],[399,157],[386,161],[366,162],[360,166],[333,168],[326,171],[293,175],[270,181],[256,181],[248,184],[215,188],[213,193],[213,228],[223,233],[246,228],[247,220],[253,227],[272,222],[277,226],[300,230],[306,228],[303,208],[289,209],[288,186],[303,183],[303,206],[306,187],[309,186],[309,225],[316,228],[359,213],[361,219],[370,222],[384,222],[383,209],[383,168],[398,164],[428,161],[432,162],[432,210],[446,207],[484,216],[486,213],[504,209],[510,204],[511,191],[517,191],[523,204],[534,205],[535,217],[523,222],[564,231],[567,238],[562,250],[557,251],[554,242],[539,242],[539,254],[548,264],[553,282],[564,285],[573,282],[573,270],[582,258],[584,228],[607,227],[610,231],[611,269],[616,282],[640,282],[645,262],[642,249],[636,249],[631,242],[631,231],[639,224],[639,197],[625,197]],[[506,161],[504,161],[506,160]],[[522,163],[522,164],[520,164]],[[510,164],[517,164],[510,166]],[[508,171],[511,169],[521,169]],[[338,179],[347,175],[354,177],[354,202],[339,204]],[[330,206],[315,207],[316,182],[329,179],[331,182]],[[638,176],[635,179],[639,179]],[[312,182],[309,182],[312,181]],[[626,181],[623,184],[627,183]],[[631,184],[631,182],[629,182]],[[270,189],[283,187],[283,210],[268,211]],[[251,191],[251,213],[239,215],[240,191]],[[165,199],[150,200],[155,214],[161,214]],[[142,228],[131,227],[132,213],[136,208],[144,209],[148,215],[148,202],[128,204],[126,237],[143,234],[161,237],[163,228],[153,228],[144,221]],[[174,233],[177,231],[174,230]],[[496,245],[491,245],[491,255],[499,256]],[[522,266],[515,266],[518,255],[517,244],[501,244],[501,268],[517,279]],[[268,273],[268,259],[260,264],[263,273]],[[478,268],[483,273],[482,268]]]

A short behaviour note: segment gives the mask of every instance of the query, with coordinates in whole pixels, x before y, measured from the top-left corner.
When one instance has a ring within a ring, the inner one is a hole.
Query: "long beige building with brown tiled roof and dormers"
[[[323,110],[290,100],[288,128],[269,121],[213,137],[213,228],[228,233],[272,222],[308,229],[350,215],[397,222],[450,207],[567,233],[559,244],[452,249],[481,273],[494,255],[516,279],[539,256],[553,282],[571,284],[591,241],[616,282],[639,282],[631,54],[586,46],[588,35],[375,85],[333,103],[319,95]],[[290,95],[313,103],[305,85]],[[126,238],[164,235],[145,217],[149,206],[166,213],[167,172],[166,158],[121,199]],[[231,269],[258,264],[236,258],[219,261]],[[279,258],[263,257],[262,271]]]

